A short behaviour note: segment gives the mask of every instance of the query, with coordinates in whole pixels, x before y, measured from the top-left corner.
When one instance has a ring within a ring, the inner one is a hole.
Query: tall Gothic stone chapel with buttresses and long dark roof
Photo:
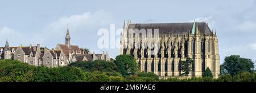
[[[123,25],[120,54],[133,55],[141,72],[160,77],[183,73],[180,61],[195,60],[188,77],[202,77],[207,67],[214,78],[220,74],[216,32],[207,23],[152,23]]]

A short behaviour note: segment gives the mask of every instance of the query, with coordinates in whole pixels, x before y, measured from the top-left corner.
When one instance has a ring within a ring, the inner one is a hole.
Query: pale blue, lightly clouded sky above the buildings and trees
[[[8,39],[10,46],[55,48],[65,43],[69,24],[71,44],[89,48],[110,57],[119,48],[98,48],[99,29],[123,28],[123,20],[131,23],[175,23],[205,21],[216,30],[220,63],[225,56],[240,55],[256,60],[256,1],[193,0],[44,0],[0,1],[0,46]],[[118,35],[115,36],[118,39]]]

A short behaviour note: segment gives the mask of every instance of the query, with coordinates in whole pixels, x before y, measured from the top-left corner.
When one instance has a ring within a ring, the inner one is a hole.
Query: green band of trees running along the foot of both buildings
[[[188,76],[193,68],[194,61],[187,59],[180,61],[180,76]],[[179,78],[171,77],[160,79],[154,73],[140,72],[133,56],[118,55],[110,61],[77,61],[67,67],[36,67],[18,60],[0,60],[0,81],[10,82],[240,82],[256,81],[254,61],[239,55],[226,56],[220,66],[220,77],[213,78],[209,68],[205,69],[203,77]]]

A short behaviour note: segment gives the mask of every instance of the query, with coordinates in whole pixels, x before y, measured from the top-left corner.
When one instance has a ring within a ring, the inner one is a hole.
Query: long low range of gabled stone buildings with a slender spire
[[[93,52],[93,54],[87,54],[84,48],[71,45],[71,36],[68,28],[65,44],[58,43],[51,50],[47,47],[40,47],[40,44],[36,46],[20,45],[18,47],[9,47],[9,42],[6,41],[5,47],[0,47],[0,59],[19,60],[30,65],[44,65],[46,67],[63,67],[75,61],[110,60],[108,53],[95,54]]]

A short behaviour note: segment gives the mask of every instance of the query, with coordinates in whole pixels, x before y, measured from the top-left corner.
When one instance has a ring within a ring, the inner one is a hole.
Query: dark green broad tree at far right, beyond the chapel
[[[242,72],[254,72],[254,62],[240,55],[226,56],[222,65],[231,76]]]

